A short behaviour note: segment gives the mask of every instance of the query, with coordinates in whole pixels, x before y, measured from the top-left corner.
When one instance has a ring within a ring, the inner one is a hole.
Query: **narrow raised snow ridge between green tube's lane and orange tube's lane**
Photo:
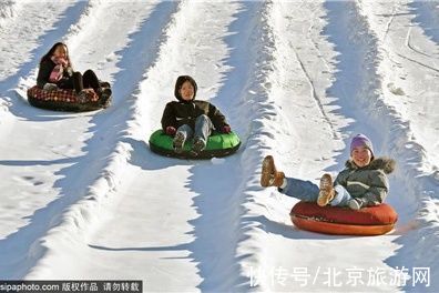
[[[234,117],[239,119],[235,122],[244,125],[239,129],[243,133],[243,146],[239,158],[239,173],[244,174],[236,190],[235,196],[239,196],[241,236],[236,246],[236,257],[239,260],[239,271],[242,281],[235,287],[236,291],[266,291],[267,280],[255,283],[253,272],[267,262],[267,247],[265,222],[263,215],[267,211],[264,201],[261,201],[259,170],[262,159],[273,144],[267,143],[266,139],[273,139],[276,134],[282,135],[282,131],[275,128],[276,123],[284,124],[282,110],[269,97],[274,81],[267,75],[274,65],[273,51],[275,50],[274,36],[269,26],[269,10],[272,1],[254,3],[251,13],[258,14],[254,27],[248,28],[247,36],[233,40],[232,44],[239,44],[235,50],[236,55],[241,55],[246,50],[248,68],[241,69],[242,72],[232,72],[228,80],[239,78],[242,89],[234,95],[238,97],[238,108]],[[253,21],[252,21],[253,22]],[[251,22],[251,23],[252,23]],[[246,42],[239,41],[246,40]],[[252,48],[248,51],[246,48]]]

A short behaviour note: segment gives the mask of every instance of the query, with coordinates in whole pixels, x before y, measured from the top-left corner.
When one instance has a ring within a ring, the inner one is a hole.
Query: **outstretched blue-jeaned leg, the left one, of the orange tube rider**
[[[286,186],[278,189],[280,193],[307,202],[317,201],[319,189],[316,184],[295,178],[285,178],[285,181]]]

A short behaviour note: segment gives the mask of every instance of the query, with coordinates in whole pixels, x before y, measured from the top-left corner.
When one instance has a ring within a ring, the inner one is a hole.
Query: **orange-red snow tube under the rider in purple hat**
[[[289,215],[299,229],[335,235],[381,235],[391,231],[398,220],[396,211],[386,203],[354,211],[300,201]]]

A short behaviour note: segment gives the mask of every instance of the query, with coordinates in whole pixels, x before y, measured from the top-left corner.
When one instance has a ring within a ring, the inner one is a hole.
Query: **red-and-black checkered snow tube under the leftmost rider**
[[[102,84],[108,84],[108,82]],[[111,97],[103,103],[92,89],[85,89],[85,101],[80,101],[74,90],[58,89],[45,91],[34,85],[28,89],[28,101],[37,108],[69,112],[94,111],[110,105]]]

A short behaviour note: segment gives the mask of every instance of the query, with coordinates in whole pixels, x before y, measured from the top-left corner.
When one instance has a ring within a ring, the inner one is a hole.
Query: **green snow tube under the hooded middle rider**
[[[206,149],[195,155],[191,152],[192,140],[184,143],[182,153],[174,152],[172,140],[173,138],[165,134],[163,130],[156,130],[150,137],[150,149],[157,154],[180,159],[212,159],[229,155],[236,152],[241,144],[239,138],[233,131],[231,133],[214,132],[208,137]]]

